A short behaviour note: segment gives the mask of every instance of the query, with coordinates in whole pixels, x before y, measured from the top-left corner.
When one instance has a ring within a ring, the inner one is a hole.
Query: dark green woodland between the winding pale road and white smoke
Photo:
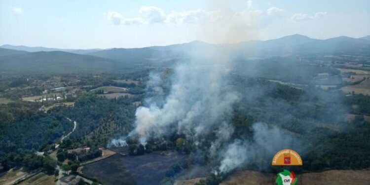
[[[50,112],[62,113],[77,122],[76,130],[69,136],[68,147],[105,147],[114,134],[127,134],[133,129],[136,98],[107,99],[85,94],[75,101],[73,108],[58,107]]]

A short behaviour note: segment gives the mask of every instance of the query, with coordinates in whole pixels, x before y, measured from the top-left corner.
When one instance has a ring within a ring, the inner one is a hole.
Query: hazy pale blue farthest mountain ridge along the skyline
[[[28,47],[14,46],[5,44],[0,48],[23,50],[28,52],[37,51],[65,51],[76,54],[88,54],[112,60],[132,60],[141,58],[153,58],[153,56],[171,56],[171,54],[179,52],[187,52],[191,48],[211,48],[211,47],[230,47],[240,50],[258,50],[263,54],[278,54],[278,53],[301,53],[306,50],[308,53],[315,52],[336,52],[343,49],[362,48],[370,44],[370,36],[361,38],[352,37],[333,37],[328,39],[315,39],[307,36],[295,34],[291,36],[280,37],[270,40],[252,40],[231,44],[210,44],[203,41],[192,41],[183,44],[172,44],[167,46],[149,46],[142,48],[111,48],[111,49],[58,49],[46,47]],[[129,56],[131,55],[131,56]]]

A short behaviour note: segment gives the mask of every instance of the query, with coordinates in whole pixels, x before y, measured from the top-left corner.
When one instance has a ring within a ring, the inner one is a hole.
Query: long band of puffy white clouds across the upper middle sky
[[[108,12],[108,21],[114,25],[133,24],[208,24],[221,22],[231,28],[261,28],[272,22],[275,17],[285,10],[278,7],[270,7],[266,11],[253,9],[252,0],[248,0],[246,8],[240,12],[208,11],[204,9],[165,12],[155,6],[142,6],[139,16],[126,18],[118,12]],[[321,14],[320,14],[321,15]],[[319,16],[319,15],[318,15]]]

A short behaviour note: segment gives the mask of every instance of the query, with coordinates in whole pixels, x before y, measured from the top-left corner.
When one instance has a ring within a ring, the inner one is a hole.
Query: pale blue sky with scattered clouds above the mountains
[[[145,47],[370,35],[370,0],[0,0],[0,45]]]

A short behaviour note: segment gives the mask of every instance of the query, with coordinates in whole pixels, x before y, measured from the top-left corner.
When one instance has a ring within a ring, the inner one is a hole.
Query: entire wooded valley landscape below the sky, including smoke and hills
[[[297,39],[304,52],[277,55]],[[314,49],[329,41],[335,51]],[[254,44],[0,48],[0,182],[267,185],[281,148],[301,153],[299,184],[367,182],[370,42],[294,35]],[[181,52],[202,47],[214,56]],[[221,50],[239,57],[224,64]]]

